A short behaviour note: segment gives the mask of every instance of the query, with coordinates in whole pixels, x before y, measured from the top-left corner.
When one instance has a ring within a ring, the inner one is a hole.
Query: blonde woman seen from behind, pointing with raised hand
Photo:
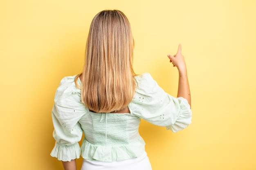
[[[150,74],[135,75],[133,48],[130,23],[124,13],[105,10],[93,18],[83,72],[64,77],[54,98],[56,144],[51,155],[63,162],[65,170],[76,170],[80,155],[81,170],[151,170],[138,132],[140,119],[173,132],[191,123],[181,45],[176,55],[168,55],[179,71],[177,97],[165,93]]]

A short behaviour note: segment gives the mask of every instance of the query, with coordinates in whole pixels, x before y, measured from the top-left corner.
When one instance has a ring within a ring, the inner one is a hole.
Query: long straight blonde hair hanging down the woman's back
[[[128,106],[135,93],[133,49],[130,23],[123,12],[104,10],[93,18],[81,73],[81,99],[87,108],[110,113]]]

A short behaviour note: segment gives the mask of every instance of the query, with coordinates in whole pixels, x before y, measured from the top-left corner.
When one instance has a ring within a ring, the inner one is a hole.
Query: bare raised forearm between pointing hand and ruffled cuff
[[[177,97],[183,97],[184,99],[186,99],[191,108],[191,95],[186,68],[182,68],[179,70],[179,85]]]

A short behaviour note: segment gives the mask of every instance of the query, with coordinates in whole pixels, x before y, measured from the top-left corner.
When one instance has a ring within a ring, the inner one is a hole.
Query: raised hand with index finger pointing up
[[[186,63],[184,56],[181,54],[181,44],[179,44],[178,51],[175,55],[167,55],[170,59],[170,62],[173,63],[173,66],[177,67],[178,70],[186,69]]]

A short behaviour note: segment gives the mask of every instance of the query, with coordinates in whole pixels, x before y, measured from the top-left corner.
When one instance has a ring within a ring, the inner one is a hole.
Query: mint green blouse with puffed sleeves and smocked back
[[[128,105],[130,113],[93,113],[81,102],[74,78],[64,77],[56,90],[52,120],[56,140],[51,152],[58,160],[84,159],[121,161],[145,152],[139,135],[140,119],[173,132],[191,124],[192,112],[186,99],[165,93],[149,73],[136,76],[137,88]],[[80,79],[78,84],[81,85]],[[78,142],[84,133],[81,148]]]

